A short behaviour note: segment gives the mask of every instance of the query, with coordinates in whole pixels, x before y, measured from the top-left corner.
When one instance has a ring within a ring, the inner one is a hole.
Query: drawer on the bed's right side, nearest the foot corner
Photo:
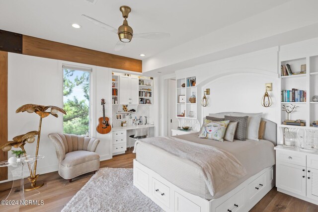
[[[216,212],[242,212],[245,208],[244,190],[241,189],[227,201],[216,208]]]

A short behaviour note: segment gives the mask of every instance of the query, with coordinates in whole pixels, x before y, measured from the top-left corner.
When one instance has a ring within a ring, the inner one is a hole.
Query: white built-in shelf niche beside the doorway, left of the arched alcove
[[[197,119],[197,99],[195,103],[190,102],[190,97],[192,95],[197,96],[197,87],[195,84],[191,83],[191,80],[195,81],[196,77],[186,77],[186,78],[179,78],[177,79],[177,86],[176,86],[176,114],[180,115],[184,113],[184,117],[177,116],[180,119]],[[182,85],[184,84],[184,87]],[[179,102],[179,96],[185,96],[185,102]],[[190,111],[192,111],[192,117],[190,116]]]

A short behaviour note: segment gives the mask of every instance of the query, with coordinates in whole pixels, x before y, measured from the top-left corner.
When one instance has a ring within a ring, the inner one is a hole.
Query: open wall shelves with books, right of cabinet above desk
[[[152,105],[154,102],[154,80],[151,78],[139,78],[139,104],[140,105]]]

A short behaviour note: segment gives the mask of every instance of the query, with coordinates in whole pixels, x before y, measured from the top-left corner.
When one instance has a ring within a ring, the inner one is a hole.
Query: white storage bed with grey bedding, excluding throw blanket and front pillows
[[[265,119],[263,119],[265,120]],[[197,133],[176,136],[230,152],[246,175],[211,194],[202,170],[191,160],[147,142],[136,144],[134,185],[164,211],[239,212],[250,210],[274,186],[276,124],[266,121],[264,140],[219,142]]]

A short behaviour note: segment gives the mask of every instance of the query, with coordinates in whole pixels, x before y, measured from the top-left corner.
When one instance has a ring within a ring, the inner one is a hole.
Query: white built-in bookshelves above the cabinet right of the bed
[[[284,125],[283,122],[287,119],[287,113],[282,111],[282,108],[280,107],[281,123],[278,125],[281,132],[280,138],[282,138],[284,128],[318,130],[318,128],[312,127],[313,121],[318,120],[318,102],[312,101],[313,96],[318,95],[318,56],[309,56],[280,62],[280,65],[286,64],[291,66],[293,72],[299,72],[301,70],[301,65],[306,64],[306,73],[281,76],[280,80],[280,91],[292,90],[292,88],[306,90],[305,102],[281,102],[281,106],[295,104],[297,106],[297,111],[290,113],[289,119],[305,120],[306,126]]]

